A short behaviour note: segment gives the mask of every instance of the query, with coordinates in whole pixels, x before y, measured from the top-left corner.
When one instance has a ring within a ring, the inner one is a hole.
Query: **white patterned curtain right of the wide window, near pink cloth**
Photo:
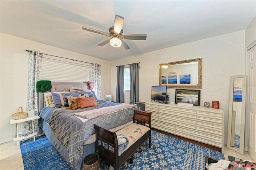
[[[98,99],[101,99],[101,68],[97,63],[91,65],[91,81],[94,83],[94,92]]]

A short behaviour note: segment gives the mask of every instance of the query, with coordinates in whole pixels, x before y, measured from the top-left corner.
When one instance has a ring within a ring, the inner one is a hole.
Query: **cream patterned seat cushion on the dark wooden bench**
[[[137,123],[132,123],[131,125],[116,131],[117,135],[126,136],[129,139],[129,144],[126,149],[128,149],[132,144],[134,144],[141,136],[148,132],[150,128],[140,125]],[[126,150],[125,149],[125,150]],[[124,150],[124,151],[125,151]]]

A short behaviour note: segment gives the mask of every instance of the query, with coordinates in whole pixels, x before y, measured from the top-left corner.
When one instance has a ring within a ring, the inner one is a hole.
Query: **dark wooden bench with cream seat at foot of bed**
[[[96,130],[95,151],[99,154],[100,158],[113,166],[115,170],[118,170],[146,140],[149,140],[149,147],[151,147],[150,112],[135,110],[133,124],[117,132],[110,132],[97,125],[94,125],[94,127]],[[137,128],[132,130],[134,127]],[[120,156],[118,156],[118,140],[116,134],[124,135],[129,139],[129,145]],[[114,152],[110,151],[108,148],[104,148],[102,145],[98,146],[98,140],[112,146]]]

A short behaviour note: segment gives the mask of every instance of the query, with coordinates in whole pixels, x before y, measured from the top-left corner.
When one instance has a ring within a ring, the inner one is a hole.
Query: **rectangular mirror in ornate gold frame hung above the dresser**
[[[202,89],[202,58],[159,64],[159,85]]]

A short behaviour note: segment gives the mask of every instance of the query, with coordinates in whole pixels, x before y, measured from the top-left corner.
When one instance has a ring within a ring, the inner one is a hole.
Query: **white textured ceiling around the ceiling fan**
[[[256,0],[0,0],[0,6],[0,32],[109,61],[245,30],[256,16]],[[116,14],[124,17],[123,35],[147,40],[124,40],[128,50],[100,47],[108,37],[82,30],[108,33]]]

